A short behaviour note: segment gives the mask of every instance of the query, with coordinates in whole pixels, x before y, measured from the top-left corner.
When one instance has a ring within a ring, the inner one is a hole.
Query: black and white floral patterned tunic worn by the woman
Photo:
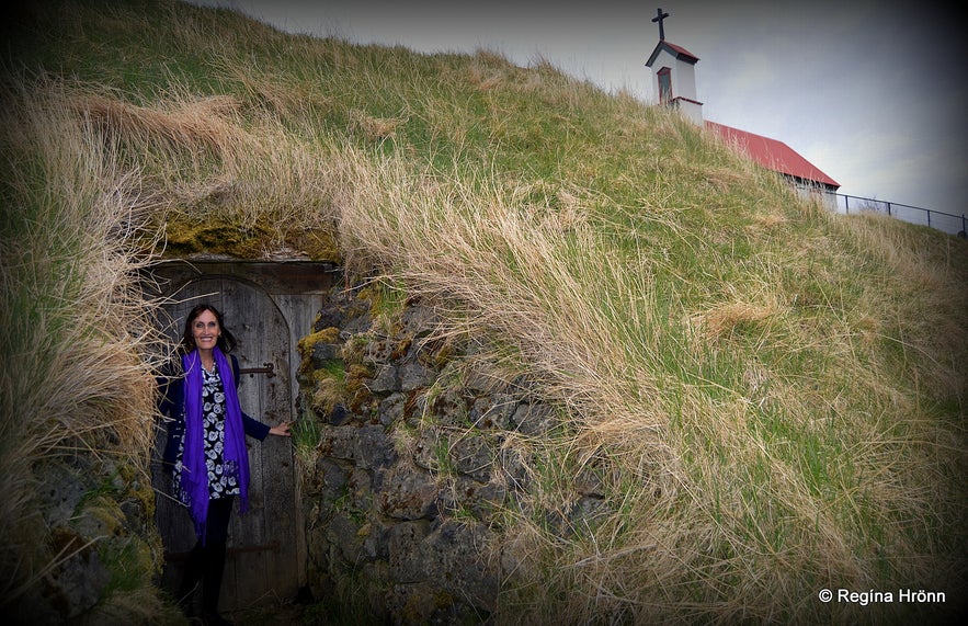
[[[218,367],[212,372],[202,368],[202,428],[205,432],[205,467],[208,469],[208,497],[214,499],[239,494],[238,479],[226,471],[223,460],[225,449],[225,387]],[[173,478],[175,487],[181,486],[182,457],[185,454],[185,439],[179,442],[178,462]],[[179,491],[176,490],[175,493]]]

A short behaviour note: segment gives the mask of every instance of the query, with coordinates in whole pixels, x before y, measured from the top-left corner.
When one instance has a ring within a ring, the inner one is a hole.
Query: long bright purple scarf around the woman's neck
[[[225,470],[238,480],[239,512],[244,513],[249,508],[249,452],[246,449],[242,410],[228,358],[218,348],[213,350],[213,354],[225,391],[223,462]],[[182,366],[185,372],[185,445],[180,496],[189,507],[195,533],[204,539],[208,520],[208,468],[205,466],[205,429],[202,424],[202,360],[197,349],[182,356]]]

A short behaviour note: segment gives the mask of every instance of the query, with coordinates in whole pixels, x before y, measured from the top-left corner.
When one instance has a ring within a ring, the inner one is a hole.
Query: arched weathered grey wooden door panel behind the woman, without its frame
[[[262,288],[234,276],[200,276],[176,287],[174,304],[166,307],[173,326],[172,339],[184,329],[186,314],[209,303],[225,317],[239,344],[232,352],[242,374],[239,401],[242,411],[270,425],[293,419],[291,398],[289,328],[273,299]],[[164,447],[160,429],[156,456]],[[249,511],[229,527],[228,555],[220,610],[235,611],[289,599],[298,590],[296,492],[292,440],[269,435],[259,442],[247,437],[251,480]],[[178,589],[184,559],[195,544],[186,509],[171,498],[170,478],[153,463],[158,497],[156,521],[164,543],[163,585]]]

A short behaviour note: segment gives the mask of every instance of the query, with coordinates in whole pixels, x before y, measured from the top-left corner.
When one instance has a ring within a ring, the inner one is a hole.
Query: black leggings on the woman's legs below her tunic
[[[235,498],[218,498],[208,501],[208,520],[205,523],[205,542],[202,537],[185,565],[180,597],[187,596],[198,580],[202,581],[202,610],[218,612],[218,595],[221,591],[221,577],[225,572],[225,553],[228,543],[228,524],[231,520]]]

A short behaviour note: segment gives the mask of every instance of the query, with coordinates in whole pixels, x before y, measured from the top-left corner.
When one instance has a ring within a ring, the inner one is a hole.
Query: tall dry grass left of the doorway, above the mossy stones
[[[42,463],[77,453],[125,459],[149,480],[152,374],[167,352],[138,283],[150,249],[135,217],[144,207],[112,167],[112,143],[86,133],[59,86],[8,84],[4,102],[0,534],[4,600],[13,601],[65,558],[45,549]]]

